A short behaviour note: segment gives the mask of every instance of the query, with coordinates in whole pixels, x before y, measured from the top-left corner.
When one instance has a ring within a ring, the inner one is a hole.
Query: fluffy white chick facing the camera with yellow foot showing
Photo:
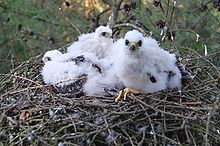
[[[174,88],[172,83],[175,80],[181,80],[176,77],[175,58],[172,54],[161,49],[156,40],[150,37],[143,37],[137,30],[126,33],[124,39],[114,43],[112,50],[118,49],[118,55],[115,58],[113,69],[121,80],[126,90],[120,91],[116,101],[125,92],[129,91],[139,93],[152,93],[168,88]],[[177,71],[178,72],[178,71]],[[168,74],[171,74],[168,82]],[[175,74],[175,75],[174,75]],[[135,89],[135,90],[132,90]]]

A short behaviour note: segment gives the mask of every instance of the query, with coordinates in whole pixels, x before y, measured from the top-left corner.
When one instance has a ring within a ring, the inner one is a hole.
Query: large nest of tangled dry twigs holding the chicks
[[[218,145],[219,69],[209,56],[183,54],[193,79],[181,91],[129,95],[119,103],[54,92],[40,75],[42,55],[31,58],[1,74],[0,145]]]

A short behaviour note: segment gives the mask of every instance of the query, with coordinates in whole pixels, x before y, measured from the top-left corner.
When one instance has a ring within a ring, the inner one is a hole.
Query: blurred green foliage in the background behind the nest
[[[130,15],[134,15],[159,40],[161,30],[156,28],[155,22],[166,19],[165,15],[153,5],[153,1],[135,1],[138,6]],[[0,0],[0,72],[6,73],[19,62],[74,41],[78,33],[64,17],[81,32],[88,32],[92,26],[91,18],[99,13],[94,6],[86,7],[85,1],[71,0],[68,8],[63,5],[65,0],[56,2]],[[95,2],[99,2],[103,9],[108,8],[101,0]],[[201,55],[204,55],[204,45],[208,47],[208,54],[220,51],[220,12],[213,7],[212,1],[205,0],[207,5],[202,7],[201,0],[178,0],[172,18],[167,2],[163,1],[162,5],[164,11],[169,11],[167,19],[172,19],[170,30],[175,31],[176,37],[174,41],[163,42],[163,47],[191,48]],[[59,7],[63,9],[63,15]],[[109,16],[109,12],[102,15],[100,24],[106,24]],[[122,16],[123,12],[119,13],[119,19]],[[196,42],[196,33],[201,36],[199,42]],[[219,67],[219,55],[210,60]]]

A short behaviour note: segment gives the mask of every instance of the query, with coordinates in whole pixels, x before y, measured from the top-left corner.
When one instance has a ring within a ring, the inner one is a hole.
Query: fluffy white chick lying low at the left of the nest
[[[94,54],[85,53],[63,61],[66,60],[65,57],[61,52],[53,50],[45,53],[42,59],[45,63],[41,71],[43,80],[46,84],[53,85],[58,92],[102,96],[106,95],[105,89],[112,89],[117,83],[99,67],[108,62],[100,61]]]

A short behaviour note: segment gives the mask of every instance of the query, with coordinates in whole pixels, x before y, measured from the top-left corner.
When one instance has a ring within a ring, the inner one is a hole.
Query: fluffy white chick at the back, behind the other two
[[[67,48],[67,52],[75,55],[94,53],[98,58],[104,58],[113,44],[111,36],[112,30],[108,26],[99,26],[95,32],[81,35]]]

